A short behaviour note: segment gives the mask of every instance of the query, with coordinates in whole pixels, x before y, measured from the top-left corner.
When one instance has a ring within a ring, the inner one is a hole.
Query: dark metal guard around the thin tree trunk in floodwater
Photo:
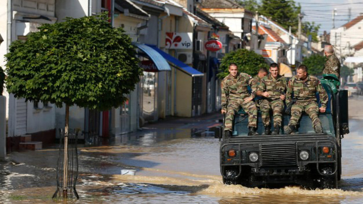
[[[79,199],[76,191],[78,177],[78,154],[77,139],[79,129],[69,129],[64,132],[59,128],[60,144],[57,163],[57,190],[52,198],[74,198]]]

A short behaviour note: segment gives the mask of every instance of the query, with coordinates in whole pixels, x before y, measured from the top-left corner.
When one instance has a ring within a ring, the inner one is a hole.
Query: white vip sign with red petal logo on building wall
[[[192,49],[193,33],[166,33],[166,49]]]

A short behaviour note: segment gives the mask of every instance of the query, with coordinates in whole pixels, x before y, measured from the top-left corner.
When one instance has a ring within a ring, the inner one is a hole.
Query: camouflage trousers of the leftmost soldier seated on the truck
[[[245,102],[243,99],[233,99],[227,106],[227,114],[224,122],[224,130],[231,130],[233,126],[234,114],[240,109],[248,114],[248,127],[257,127],[257,108],[254,101]]]

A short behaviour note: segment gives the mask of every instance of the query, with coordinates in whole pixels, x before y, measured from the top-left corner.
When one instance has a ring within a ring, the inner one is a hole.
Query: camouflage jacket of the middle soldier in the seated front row
[[[260,85],[258,85],[257,91],[267,91],[269,97],[272,100],[279,99],[281,95],[286,92],[287,79],[280,75],[277,79],[274,79],[271,74],[261,79]]]

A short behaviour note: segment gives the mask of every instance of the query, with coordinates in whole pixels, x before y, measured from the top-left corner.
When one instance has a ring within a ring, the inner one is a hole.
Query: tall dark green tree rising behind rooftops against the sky
[[[298,15],[301,12],[300,4],[296,5],[293,0],[261,0],[258,11],[271,20],[282,25],[286,30],[295,33],[298,28]]]

